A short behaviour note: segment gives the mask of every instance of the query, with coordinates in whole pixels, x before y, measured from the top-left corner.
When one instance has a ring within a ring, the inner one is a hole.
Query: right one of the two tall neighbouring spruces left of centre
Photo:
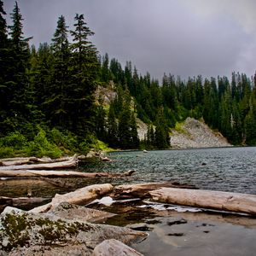
[[[94,35],[84,21],[84,15],[76,15],[75,30],[71,31],[73,36],[71,73],[73,84],[69,94],[72,102],[73,130],[80,135],[84,132],[93,131],[95,114],[94,92],[96,90],[96,78],[99,72],[97,61],[97,50],[89,38]]]

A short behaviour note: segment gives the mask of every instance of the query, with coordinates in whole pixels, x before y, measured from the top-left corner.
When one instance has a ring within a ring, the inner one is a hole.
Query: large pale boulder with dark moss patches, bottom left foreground
[[[0,255],[91,255],[102,241],[142,241],[144,232],[6,209],[0,216]]]

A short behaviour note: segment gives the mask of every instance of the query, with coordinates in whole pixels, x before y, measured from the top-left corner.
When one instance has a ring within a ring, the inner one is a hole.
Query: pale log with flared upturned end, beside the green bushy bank
[[[19,166],[0,166],[0,171],[16,171],[16,170],[55,170],[55,169],[67,169],[75,168],[78,164],[78,157],[75,154],[69,160],[63,160],[61,162],[31,164],[31,165],[19,165]]]

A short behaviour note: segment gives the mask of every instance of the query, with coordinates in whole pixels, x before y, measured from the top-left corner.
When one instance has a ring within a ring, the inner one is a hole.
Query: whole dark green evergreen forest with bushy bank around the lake
[[[170,128],[187,117],[204,119],[230,143],[256,145],[256,77],[187,81],[164,75],[162,83],[141,75],[131,61],[125,67],[99,55],[94,35],[75,15],[71,29],[57,20],[50,44],[38,49],[24,38],[22,15],[15,2],[5,20],[0,0],[0,157],[58,157],[90,148],[170,148]],[[112,84],[109,106],[96,89]],[[143,141],[137,118],[148,125]]]

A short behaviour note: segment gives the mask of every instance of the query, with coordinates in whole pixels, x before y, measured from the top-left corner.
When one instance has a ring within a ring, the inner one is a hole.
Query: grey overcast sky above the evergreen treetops
[[[72,28],[84,14],[103,55],[156,79],[164,73],[183,79],[256,70],[255,0],[18,0],[25,35],[32,44],[50,42],[57,19]],[[3,0],[12,12],[15,1]],[[9,22],[9,20],[8,20]]]

